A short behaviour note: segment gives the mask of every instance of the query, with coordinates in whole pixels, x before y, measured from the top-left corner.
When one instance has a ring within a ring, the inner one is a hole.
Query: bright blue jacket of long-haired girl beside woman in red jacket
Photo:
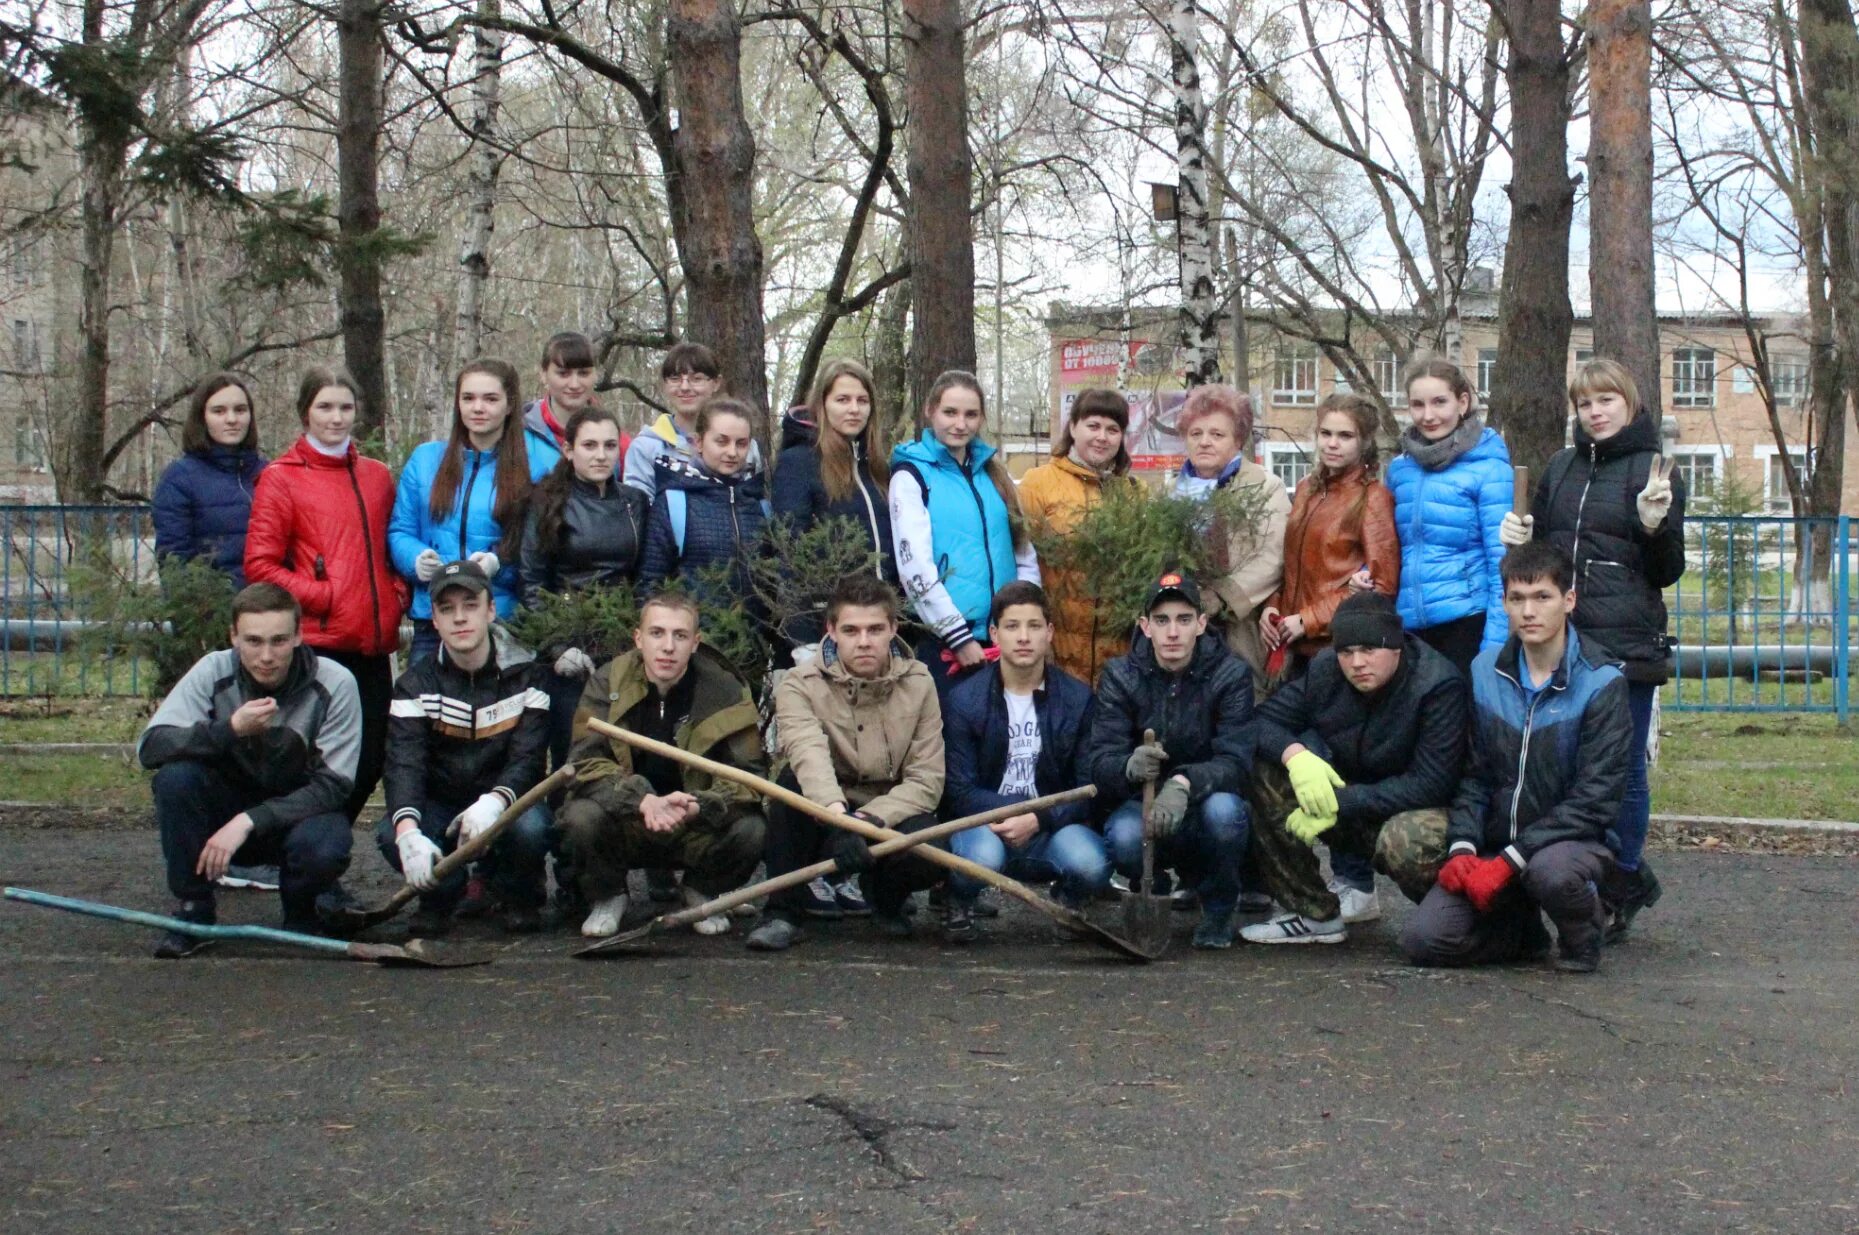
[[[554,443],[543,441],[535,433],[524,433],[524,448],[530,454],[530,482],[548,474],[561,458]],[[400,472],[400,489],[394,493],[394,517],[387,525],[387,552],[394,560],[394,569],[413,584],[413,618],[431,619],[433,601],[426,595],[426,586],[415,571],[420,554],[431,549],[444,562],[455,562],[474,552],[496,552],[504,539],[504,526],[491,515],[496,508],[496,450],[465,448],[465,478],[459,493],[452,498],[452,510],[444,519],[433,519],[431,493],[439,461],[446,458],[446,443],[429,441],[413,448],[407,467]],[[509,618],[517,612],[517,554],[511,552],[504,569],[491,580],[491,597],[496,601],[496,616]]]

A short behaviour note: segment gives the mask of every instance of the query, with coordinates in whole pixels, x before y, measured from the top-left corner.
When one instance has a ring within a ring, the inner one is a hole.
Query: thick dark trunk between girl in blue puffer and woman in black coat
[[[1491,424],[1504,430],[1511,461],[1541,469],[1562,448],[1567,422],[1569,60],[1556,0],[1510,0],[1511,93],[1510,240],[1498,305],[1498,361],[1491,376]]]

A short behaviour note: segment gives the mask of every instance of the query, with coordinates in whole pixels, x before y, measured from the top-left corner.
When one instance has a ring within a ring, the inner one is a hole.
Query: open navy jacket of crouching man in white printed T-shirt
[[[1035,798],[1089,783],[1078,755],[1091,733],[1093,710],[1091,688],[1048,664],[1045,681],[1034,690],[1034,716],[1039,718]],[[998,664],[991,662],[950,688],[943,705],[943,807],[950,818],[1024,802],[1000,792],[1000,777],[1008,772],[1008,697],[1000,688]],[[1089,822],[1089,802],[1039,811],[1039,831]]]

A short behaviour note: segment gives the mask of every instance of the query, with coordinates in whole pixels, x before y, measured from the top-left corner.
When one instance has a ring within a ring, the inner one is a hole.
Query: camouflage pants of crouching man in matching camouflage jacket
[[[742,887],[762,859],[760,815],[738,815],[723,828],[686,824],[675,831],[651,831],[638,811],[613,813],[593,798],[571,798],[556,813],[574,854],[580,891],[606,900],[626,891],[626,870],[682,870],[686,887],[719,896]]]

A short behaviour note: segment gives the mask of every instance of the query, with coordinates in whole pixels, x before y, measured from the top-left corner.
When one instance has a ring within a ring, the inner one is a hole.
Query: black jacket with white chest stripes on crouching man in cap
[[[481,794],[515,802],[543,779],[548,696],[535,657],[493,627],[491,660],[467,673],[444,647],[394,683],[387,811],[418,822],[428,803],[463,811]]]

